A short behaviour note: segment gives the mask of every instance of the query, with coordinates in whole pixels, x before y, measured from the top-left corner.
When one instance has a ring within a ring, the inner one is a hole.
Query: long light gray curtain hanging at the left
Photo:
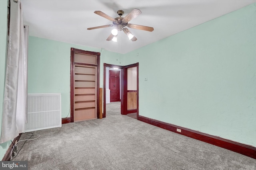
[[[28,26],[20,0],[10,0],[10,31],[0,143],[24,132],[27,121]]]

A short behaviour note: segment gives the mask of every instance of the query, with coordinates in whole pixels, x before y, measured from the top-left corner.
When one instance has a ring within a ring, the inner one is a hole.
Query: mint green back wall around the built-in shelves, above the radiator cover
[[[28,41],[28,93],[61,93],[62,117],[70,117],[70,48],[100,52],[103,63],[118,64],[120,57],[104,49],[84,47],[38,37]],[[103,87],[103,80],[100,80]]]

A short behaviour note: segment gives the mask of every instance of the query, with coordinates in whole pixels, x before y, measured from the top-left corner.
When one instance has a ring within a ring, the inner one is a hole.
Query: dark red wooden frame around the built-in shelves
[[[74,64],[84,63],[74,63],[75,53],[82,53],[88,55],[97,56],[97,64],[86,64],[88,66],[97,66],[97,84],[96,84],[96,95],[97,95],[97,118],[100,117],[100,107],[99,107],[99,96],[100,96],[100,53],[92,51],[84,51],[80,49],[71,48],[70,49],[70,122],[74,122]]]

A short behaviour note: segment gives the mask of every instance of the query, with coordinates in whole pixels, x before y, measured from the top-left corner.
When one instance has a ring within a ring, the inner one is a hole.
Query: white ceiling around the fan
[[[87,47],[104,48],[127,53],[212,20],[256,0],[22,0],[24,24],[30,35]],[[113,27],[87,30],[88,27],[112,24],[94,14],[99,10],[118,17],[118,10],[126,16],[137,8],[142,11],[129,23],[154,27],[154,31],[129,28],[138,38],[130,41],[124,32],[118,42],[106,41]]]

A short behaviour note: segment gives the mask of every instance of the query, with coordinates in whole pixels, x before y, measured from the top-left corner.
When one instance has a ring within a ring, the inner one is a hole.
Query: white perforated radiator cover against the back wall
[[[25,132],[61,127],[61,94],[28,94]]]

